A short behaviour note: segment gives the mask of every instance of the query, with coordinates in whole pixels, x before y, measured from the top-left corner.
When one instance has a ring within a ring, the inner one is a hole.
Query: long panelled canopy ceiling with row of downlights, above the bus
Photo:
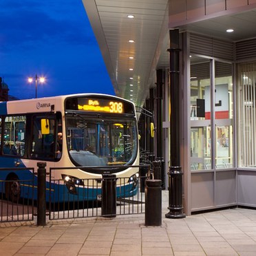
[[[143,105],[149,87],[156,82],[154,69],[162,48],[161,30],[163,35],[167,31],[167,3],[83,0],[116,95],[136,105]]]

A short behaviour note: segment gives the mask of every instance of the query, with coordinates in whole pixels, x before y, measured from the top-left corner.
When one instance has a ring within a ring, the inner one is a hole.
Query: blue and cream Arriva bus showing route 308
[[[58,201],[96,200],[105,173],[115,175],[117,197],[137,193],[138,127],[129,100],[72,94],[1,102],[0,122],[0,180],[5,182],[0,192],[6,198],[32,198],[31,189],[22,189],[29,184],[20,182],[32,178],[37,195],[37,175],[17,167],[36,170],[38,162],[55,168],[47,175],[47,201],[56,190],[61,191]]]

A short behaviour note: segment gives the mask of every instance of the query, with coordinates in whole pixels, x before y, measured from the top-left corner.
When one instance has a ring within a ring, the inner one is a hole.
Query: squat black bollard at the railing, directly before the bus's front
[[[101,193],[101,215],[103,217],[116,217],[115,174],[103,174]]]

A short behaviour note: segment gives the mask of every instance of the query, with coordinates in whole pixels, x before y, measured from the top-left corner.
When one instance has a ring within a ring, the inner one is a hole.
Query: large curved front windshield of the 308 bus
[[[77,166],[131,164],[137,154],[135,118],[66,116],[67,148]]]

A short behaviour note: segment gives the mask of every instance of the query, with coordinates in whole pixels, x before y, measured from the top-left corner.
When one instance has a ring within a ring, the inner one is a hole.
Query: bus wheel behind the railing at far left
[[[21,184],[16,175],[11,175],[6,180],[6,199],[11,202],[19,202],[21,197]]]

